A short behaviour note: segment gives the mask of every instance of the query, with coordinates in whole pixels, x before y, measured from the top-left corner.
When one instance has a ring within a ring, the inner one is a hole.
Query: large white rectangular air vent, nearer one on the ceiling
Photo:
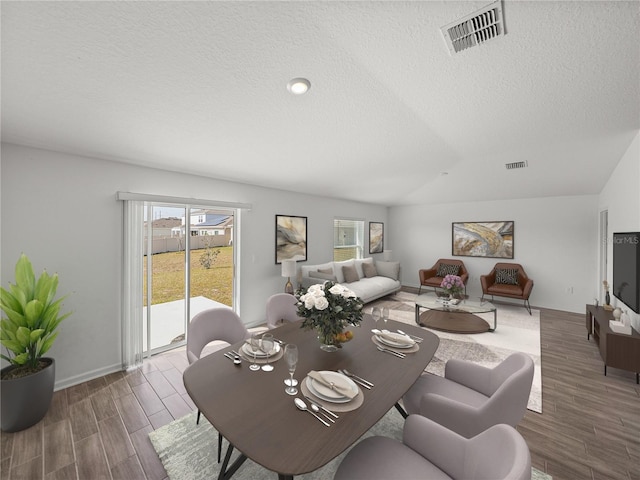
[[[449,54],[475,47],[499,35],[504,35],[502,1],[490,3],[466,17],[440,28]]]

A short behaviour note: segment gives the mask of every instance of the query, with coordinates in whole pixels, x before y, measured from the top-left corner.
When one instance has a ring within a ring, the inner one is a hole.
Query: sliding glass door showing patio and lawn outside
[[[144,356],[185,343],[188,323],[212,307],[233,308],[235,211],[144,205]]]

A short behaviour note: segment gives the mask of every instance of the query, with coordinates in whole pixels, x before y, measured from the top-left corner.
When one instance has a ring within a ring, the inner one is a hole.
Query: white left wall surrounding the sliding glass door
[[[2,144],[1,283],[25,252],[36,272],[60,275],[70,293],[50,350],[56,388],[120,369],[123,207],[117,191],[251,203],[241,214],[239,313],[264,321],[267,298],[284,288],[275,264],[275,215],[308,217],[308,263],[333,255],[333,219],[387,222],[386,207],[312,197],[47,150]],[[78,219],[83,219],[79,221]],[[368,237],[368,236],[367,236]],[[365,245],[368,251],[368,244]]]

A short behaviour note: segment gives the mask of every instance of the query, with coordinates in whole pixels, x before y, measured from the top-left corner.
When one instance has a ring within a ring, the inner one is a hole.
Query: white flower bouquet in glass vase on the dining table
[[[311,285],[299,290],[296,297],[298,316],[303,318],[301,328],[315,330],[323,350],[341,348],[353,337],[347,326],[362,322],[362,300],[339,283]]]

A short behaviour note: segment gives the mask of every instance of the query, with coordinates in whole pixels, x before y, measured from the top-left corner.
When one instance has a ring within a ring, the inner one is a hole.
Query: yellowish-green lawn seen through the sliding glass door
[[[233,298],[233,247],[215,247],[216,261],[210,269],[200,264],[204,249],[191,252],[191,296],[203,296],[225,305]],[[185,253],[167,252],[151,256],[153,262],[152,304],[184,299]],[[147,288],[147,262],[144,262],[144,286]],[[146,306],[146,298],[144,299]]]

